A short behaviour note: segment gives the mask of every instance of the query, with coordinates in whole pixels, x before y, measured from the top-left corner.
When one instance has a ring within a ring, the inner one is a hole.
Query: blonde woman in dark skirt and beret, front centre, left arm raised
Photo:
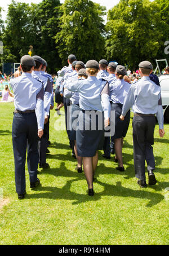
[[[93,179],[98,162],[98,149],[103,148],[104,125],[109,124],[109,86],[103,79],[97,79],[99,63],[86,63],[88,78],[68,85],[68,90],[79,92],[78,130],[76,132],[77,153],[83,157],[83,169],[88,184],[88,195],[94,195]],[[104,112],[104,123],[103,123]]]

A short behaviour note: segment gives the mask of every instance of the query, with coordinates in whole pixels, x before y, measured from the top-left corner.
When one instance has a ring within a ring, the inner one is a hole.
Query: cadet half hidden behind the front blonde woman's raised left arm
[[[74,63],[74,62],[73,62]],[[81,70],[84,70],[82,73],[78,73]],[[70,123],[71,123],[71,127],[70,127],[70,140],[72,140],[73,144],[74,144],[74,153],[75,156],[77,158],[77,171],[78,173],[82,173],[82,157],[78,156],[77,153],[77,143],[76,143],[76,129],[77,129],[77,125],[75,125],[75,120],[77,120],[77,116],[74,115],[74,113],[80,112],[81,109],[79,108],[79,93],[78,92],[71,92],[69,90],[67,90],[67,85],[69,85],[69,83],[72,83],[72,81],[77,81],[78,80],[78,75],[81,76],[81,74],[84,76],[84,72],[86,74],[86,69],[84,69],[84,63],[83,61],[76,61],[75,63],[75,74],[73,75],[72,72],[72,76],[70,76],[68,78],[68,80],[66,80],[66,84],[65,84],[65,90],[64,90],[64,97],[70,99],[70,107],[71,107],[71,113],[70,113]],[[82,79],[82,78],[79,78]],[[83,78],[84,79],[84,78]]]

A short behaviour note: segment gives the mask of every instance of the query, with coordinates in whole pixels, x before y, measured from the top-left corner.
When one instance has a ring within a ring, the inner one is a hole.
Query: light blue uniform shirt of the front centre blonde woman
[[[110,101],[108,94],[101,94],[107,81],[88,77],[69,83],[68,90],[79,92],[79,107],[83,110],[104,111],[104,117],[110,116]]]

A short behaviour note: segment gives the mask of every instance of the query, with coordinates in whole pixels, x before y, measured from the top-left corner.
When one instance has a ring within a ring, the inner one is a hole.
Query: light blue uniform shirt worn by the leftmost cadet
[[[14,91],[15,109],[23,112],[36,109],[38,129],[43,129],[45,117],[42,82],[35,80],[31,73],[23,72],[21,76],[12,78],[10,85]]]

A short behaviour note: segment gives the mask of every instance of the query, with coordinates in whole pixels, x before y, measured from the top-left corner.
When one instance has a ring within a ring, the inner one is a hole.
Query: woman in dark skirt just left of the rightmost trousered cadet
[[[127,134],[130,123],[130,111],[126,114],[125,122],[119,119],[122,113],[124,98],[131,86],[130,83],[125,82],[123,79],[126,74],[126,69],[123,66],[118,65],[115,70],[117,81],[112,85],[112,111],[115,111],[115,134],[113,136],[115,147],[114,161],[118,162],[118,167],[116,167],[116,169],[119,171],[124,171],[122,158],[123,138]]]

